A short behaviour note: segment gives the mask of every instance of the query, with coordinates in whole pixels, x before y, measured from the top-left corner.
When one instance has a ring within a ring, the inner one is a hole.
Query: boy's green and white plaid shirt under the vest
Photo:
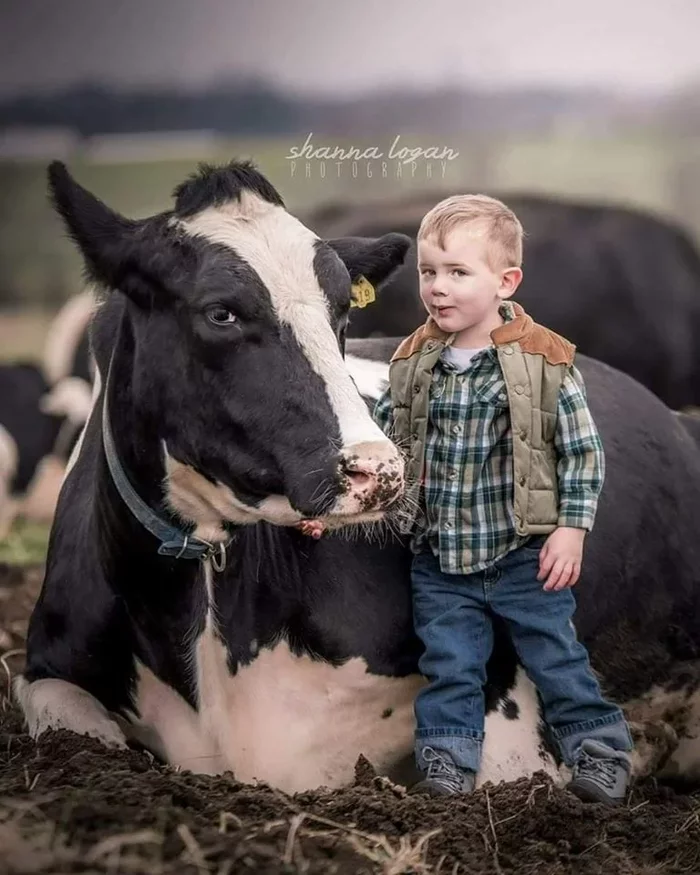
[[[605,459],[583,378],[575,366],[564,378],[557,414],[558,524],[590,530]],[[374,419],[391,437],[389,389],[377,401]],[[494,347],[476,353],[461,371],[443,351],[433,371],[425,453],[411,544],[414,552],[430,549],[439,557],[443,572],[470,574],[527,540],[515,528],[513,441]]]

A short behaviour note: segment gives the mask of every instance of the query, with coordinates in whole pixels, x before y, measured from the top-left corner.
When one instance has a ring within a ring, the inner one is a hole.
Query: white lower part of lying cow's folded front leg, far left
[[[19,675],[13,686],[32,738],[47,729],[68,729],[108,747],[126,747],[124,733],[104,705],[75,684],[57,678],[29,682]]]

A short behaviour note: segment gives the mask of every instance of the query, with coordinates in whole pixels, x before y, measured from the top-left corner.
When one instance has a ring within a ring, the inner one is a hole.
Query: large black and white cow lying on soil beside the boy
[[[289,792],[347,783],[359,754],[409,781],[424,683],[410,555],[372,522],[400,509],[402,460],[348,370],[369,398],[392,347],[342,357],[351,282],[386,281],[409,240],[321,240],[248,164],[202,168],[140,221],[60,164],[50,181],[112,291],[15,683],[32,735],[133,738]],[[697,447],[634,381],[581,366],[609,484],[579,628],[610,692],[694,774]],[[329,525],[320,541],[292,527],[311,516]],[[536,694],[496,631],[479,780],[554,774]]]

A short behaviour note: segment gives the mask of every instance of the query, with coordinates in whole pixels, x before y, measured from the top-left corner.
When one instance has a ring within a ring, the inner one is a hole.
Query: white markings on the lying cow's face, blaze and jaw
[[[342,449],[366,462],[370,470],[384,469],[389,475],[395,471],[400,482],[402,458],[369,415],[331,329],[328,302],[314,271],[319,238],[284,208],[251,192],[244,192],[240,202],[209,207],[178,223],[189,234],[228,246],[258,274],[275,315],[291,328],[311,367],[324,382],[340,426]],[[194,472],[186,475],[181,470],[184,466],[178,468],[172,460],[168,466],[170,504],[212,537],[220,536],[217,529],[223,519],[238,523],[264,519],[279,525],[292,525],[301,519],[282,496],[270,496],[257,508],[250,508],[230,489],[207,488],[202,483],[204,478]],[[342,516],[343,523],[348,524],[382,517],[381,512],[365,512],[366,506],[367,486],[362,491],[353,486],[338,497],[329,518]]]

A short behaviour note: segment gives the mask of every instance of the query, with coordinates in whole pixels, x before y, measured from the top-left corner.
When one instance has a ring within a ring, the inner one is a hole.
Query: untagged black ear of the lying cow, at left
[[[87,278],[149,307],[172,276],[174,253],[147,220],[126,219],[83,188],[65,165],[49,165],[49,196],[83,255]],[[150,245],[149,245],[150,238]]]

